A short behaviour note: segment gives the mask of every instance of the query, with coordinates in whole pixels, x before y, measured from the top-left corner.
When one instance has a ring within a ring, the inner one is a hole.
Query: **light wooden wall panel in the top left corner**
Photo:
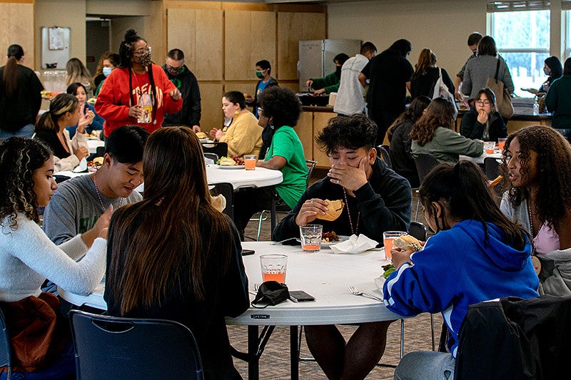
[[[6,50],[12,43],[24,48],[24,66],[34,69],[34,4],[0,3],[0,66],[6,63]]]

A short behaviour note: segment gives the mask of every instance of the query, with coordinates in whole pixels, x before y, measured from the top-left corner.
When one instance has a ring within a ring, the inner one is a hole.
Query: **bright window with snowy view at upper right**
[[[547,78],[543,61],[550,56],[548,1],[492,1],[490,34],[497,52],[510,68],[515,94],[529,98],[521,88],[539,88]]]

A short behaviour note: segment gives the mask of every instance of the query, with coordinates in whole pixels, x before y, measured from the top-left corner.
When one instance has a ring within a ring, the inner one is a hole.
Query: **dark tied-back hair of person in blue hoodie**
[[[507,218],[495,204],[482,170],[470,161],[460,160],[456,165],[443,163],[428,173],[419,190],[420,202],[435,216],[432,202],[440,202],[448,208],[453,220],[477,220],[482,222],[485,242],[488,240],[487,222],[500,227],[505,242],[522,250],[527,242],[527,232]],[[444,212],[435,218],[437,230],[445,228]],[[436,231],[438,232],[438,231]]]

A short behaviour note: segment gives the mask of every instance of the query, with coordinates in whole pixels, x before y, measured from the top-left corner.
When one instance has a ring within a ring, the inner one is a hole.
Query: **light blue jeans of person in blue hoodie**
[[[448,352],[413,351],[400,359],[395,380],[452,380],[455,364]]]

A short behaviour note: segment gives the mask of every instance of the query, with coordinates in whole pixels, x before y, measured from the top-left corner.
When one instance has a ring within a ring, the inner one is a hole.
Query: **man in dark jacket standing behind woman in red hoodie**
[[[173,48],[166,55],[163,66],[167,78],[181,91],[183,107],[177,113],[165,115],[163,125],[188,125],[195,132],[201,131],[201,90],[196,76],[184,64],[184,53]]]

